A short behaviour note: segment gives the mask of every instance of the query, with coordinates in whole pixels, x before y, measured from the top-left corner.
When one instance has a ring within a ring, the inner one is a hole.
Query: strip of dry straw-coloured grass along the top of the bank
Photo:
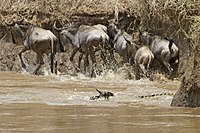
[[[56,19],[67,23],[76,16],[105,20],[114,17],[116,7],[121,14],[139,19],[146,27],[155,18],[157,22],[152,30],[159,30],[159,25],[163,24],[176,25],[186,34],[189,29],[185,27],[185,21],[200,15],[197,0],[2,0],[0,22],[4,24],[5,19],[19,19],[18,13],[39,26]]]

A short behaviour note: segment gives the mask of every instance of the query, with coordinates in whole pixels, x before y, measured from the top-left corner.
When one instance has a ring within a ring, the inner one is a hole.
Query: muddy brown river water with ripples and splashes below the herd
[[[123,80],[108,74],[44,75],[0,72],[1,133],[193,133],[200,131],[199,108],[170,107],[178,81]],[[111,91],[109,101],[95,89]]]

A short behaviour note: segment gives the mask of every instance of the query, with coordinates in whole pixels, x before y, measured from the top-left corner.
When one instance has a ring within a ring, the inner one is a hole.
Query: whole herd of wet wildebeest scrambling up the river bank
[[[161,36],[138,30],[140,33],[139,43],[136,44],[131,35],[117,26],[115,20],[109,20],[108,25],[80,25],[78,28],[70,24],[68,27],[57,27],[57,21],[53,28],[59,32],[56,37],[50,30],[24,25],[16,22],[6,22],[12,30],[20,35],[24,48],[19,52],[22,67],[26,67],[22,60],[22,53],[32,50],[37,55],[37,67],[34,74],[37,74],[43,62],[43,54],[51,53],[51,72],[56,72],[54,63],[57,51],[70,52],[70,61],[76,69],[81,70],[81,60],[84,59],[84,71],[88,70],[89,57],[94,69],[97,61],[95,53],[100,51],[101,58],[105,65],[108,60],[116,62],[114,52],[123,59],[123,63],[130,63],[135,68],[139,68],[143,75],[148,77],[149,67],[152,60],[157,59],[162,62],[169,73],[173,72],[171,59],[176,58],[173,63],[178,63],[179,49],[172,39],[163,39]],[[12,34],[13,35],[13,34]],[[14,38],[14,37],[13,37]],[[71,47],[71,49],[69,48]],[[72,51],[69,51],[72,50]],[[80,52],[78,65],[74,62],[74,56]],[[56,66],[56,65],[55,65]]]

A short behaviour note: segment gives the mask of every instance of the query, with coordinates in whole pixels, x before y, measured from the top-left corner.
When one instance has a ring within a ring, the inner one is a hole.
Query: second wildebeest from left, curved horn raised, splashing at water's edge
[[[54,23],[54,28],[57,30],[62,30],[57,28]],[[75,54],[80,51],[85,55],[84,68],[89,66],[88,56],[90,55],[93,65],[96,64],[95,52],[97,50],[104,51],[108,46],[109,36],[105,32],[106,27],[103,25],[81,25],[78,29],[76,28],[67,28],[63,29],[60,33],[61,43],[66,45],[66,39],[70,41],[73,45],[73,51],[70,56],[70,61],[73,62],[73,57]],[[67,46],[68,47],[68,46]],[[102,54],[104,54],[102,52]],[[104,55],[105,56],[105,55]],[[80,58],[79,58],[79,67],[80,67]]]

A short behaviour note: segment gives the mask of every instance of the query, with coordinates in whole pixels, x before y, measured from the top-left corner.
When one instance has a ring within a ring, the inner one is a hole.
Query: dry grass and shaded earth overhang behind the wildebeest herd
[[[139,26],[163,37],[196,38],[200,1],[197,0],[1,0],[0,24],[18,20],[21,14],[33,25],[51,28],[52,22],[106,24],[115,11],[125,30]]]

